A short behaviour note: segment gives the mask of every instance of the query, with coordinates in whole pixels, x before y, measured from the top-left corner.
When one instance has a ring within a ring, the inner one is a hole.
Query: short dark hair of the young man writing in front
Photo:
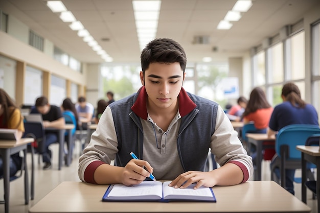
[[[185,73],[187,56],[182,46],[170,38],[156,38],[150,41],[141,53],[141,68],[143,75],[150,63],[179,62],[182,72]]]

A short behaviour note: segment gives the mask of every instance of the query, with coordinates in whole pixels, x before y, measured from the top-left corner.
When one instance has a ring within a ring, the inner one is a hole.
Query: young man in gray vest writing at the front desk
[[[170,185],[176,188],[193,182],[198,188],[239,184],[252,176],[252,158],[223,109],[182,88],[186,63],[177,42],[148,43],[141,54],[143,86],[102,114],[79,159],[82,181],[131,185],[153,173],[156,179],[173,179]],[[201,172],[209,148],[221,167]],[[118,167],[110,165],[113,159]]]

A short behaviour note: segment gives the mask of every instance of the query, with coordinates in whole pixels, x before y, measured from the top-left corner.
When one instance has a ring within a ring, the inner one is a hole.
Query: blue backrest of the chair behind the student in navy
[[[281,156],[281,149],[287,149],[287,159],[301,159],[301,152],[296,146],[305,145],[307,138],[317,133],[320,133],[317,125],[293,124],[283,127],[276,137],[276,152]]]

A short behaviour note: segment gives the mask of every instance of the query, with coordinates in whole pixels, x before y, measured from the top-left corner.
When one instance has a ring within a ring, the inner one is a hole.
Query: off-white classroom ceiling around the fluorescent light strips
[[[95,38],[113,62],[139,62],[140,49],[131,0],[62,0]],[[189,62],[212,57],[226,61],[241,57],[266,37],[303,18],[319,0],[254,0],[253,6],[233,22],[230,30],[216,27],[236,0],[162,0],[157,37],[178,41]],[[81,62],[104,60],[53,13],[44,0],[0,0],[0,9],[24,22]],[[195,44],[195,36],[209,36],[209,44]],[[107,41],[104,41],[107,39]],[[215,49],[215,51],[213,50]]]

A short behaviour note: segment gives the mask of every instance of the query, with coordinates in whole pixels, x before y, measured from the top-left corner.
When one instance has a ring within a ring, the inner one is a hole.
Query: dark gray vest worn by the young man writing
[[[196,108],[181,117],[181,125],[177,137],[177,150],[182,168],[190,171],[203,171],[205,161],[214,133],[218,104],[195,96],[188,96],[196,104]],[[130,152],[143,159],[143,129],[138,117],[132,110],[139,93],[109,105],[115,123],[118,150],[115,165],[125,167],[132,159]],[[183,107],[183,106],[181,106]],[[203,125],[206,124],[206,125]]]

